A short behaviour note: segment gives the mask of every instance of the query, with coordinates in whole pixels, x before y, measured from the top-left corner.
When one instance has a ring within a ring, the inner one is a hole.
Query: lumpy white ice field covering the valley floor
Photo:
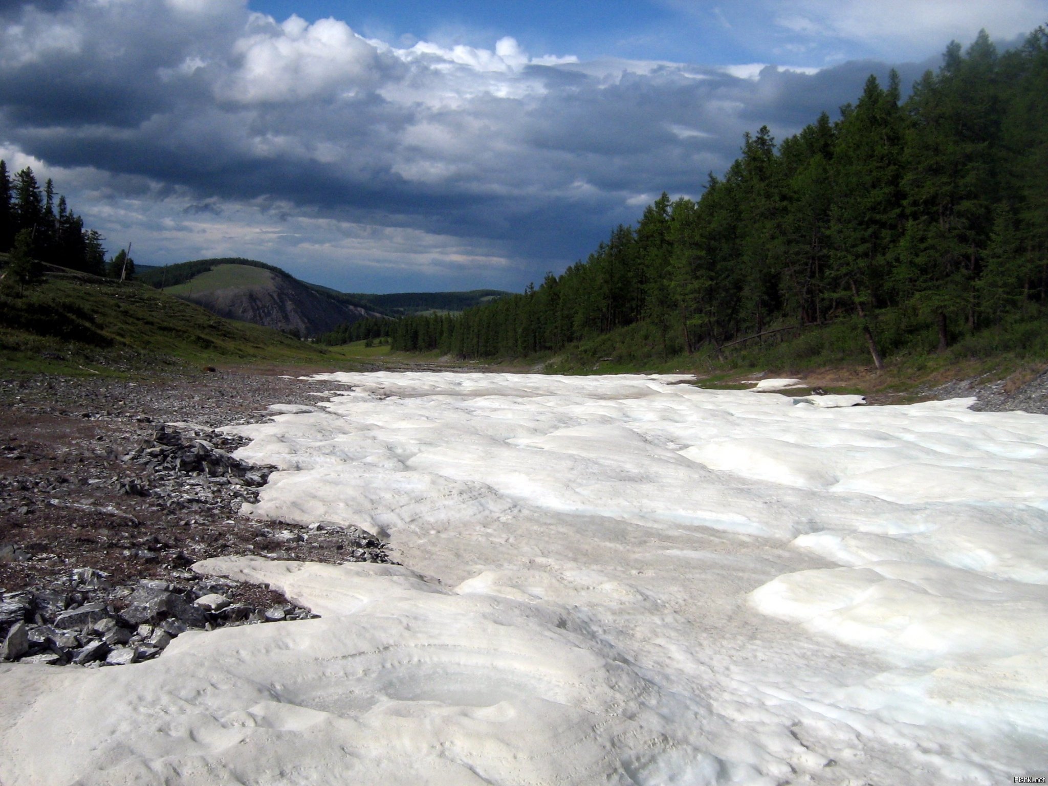
[[[328,374],[230,559],[319,619],[0,665],[0,783],[1006,784],[1048,773],[1048,418],[673,377]],[[788,393],[788,392],[787,392]],[[839,401],[848,403],[848,401]]]

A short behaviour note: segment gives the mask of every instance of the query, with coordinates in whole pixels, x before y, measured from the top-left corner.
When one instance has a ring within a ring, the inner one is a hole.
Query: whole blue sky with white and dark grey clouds
[[[1048,0],[0,0],[0,157],[110,252],[521,290],[745,131],[835,116]]]

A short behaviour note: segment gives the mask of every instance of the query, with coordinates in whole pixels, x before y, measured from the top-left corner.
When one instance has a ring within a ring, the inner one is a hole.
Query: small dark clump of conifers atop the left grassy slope
[[[15,248],[22,236],[19,252],[40,262],[102,276],[105,274],[104,238],[94,230],[85,230],[83,219],[54,196],[50,178],[40,188],[29,167],[12,179],[7,162],[0,160],[0,252]]]

